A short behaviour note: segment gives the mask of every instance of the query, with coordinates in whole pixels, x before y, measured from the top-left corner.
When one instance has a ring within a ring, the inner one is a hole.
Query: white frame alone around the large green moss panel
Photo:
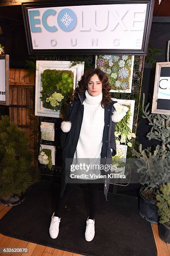
[[[45,69],[70,70],[74,74],[73,89],[75,90],[78,81],[84,73],[84,61],[73,67],[70,67],[70,65],[71,61],[36,61],[35,115],[62,118],[60,111],[47,109],[42,106],[42,101],[40,99],[40,92],[42,91],[41,74]]]

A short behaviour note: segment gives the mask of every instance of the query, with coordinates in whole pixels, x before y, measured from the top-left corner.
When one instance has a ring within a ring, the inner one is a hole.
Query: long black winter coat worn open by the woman
[[[82,124],[85,95],[78,94],[77,99],[70,102],[67,106],[65,113],[65,120],[61,123],[61,136],[60,143],[62,148],[62,182],[60,197],[62,197],[66,184],[67,177],[70,175],[70,169],[65,168],[65,159],[69,158],[73,160],[74,153],[77,147],[78,139],[80,136],[80,129]],[[112,156],[116,154],[115,143],[115,123],[112,121],[112,115],[115,113],[115,107],[113,104],[116,101],[112,101],[110,105],[105,106],[104,118],[105,125],[102,136],[102,150],[100,157],[104,161],[102,164],[112,164]],[[113,113],[113,114],[112,114]],[[111,151],[112,148],[112,151]],[[72,163],[72,162],[71,162]],[[105,178],[104,181],[104,195],[107,201],[107,193],[109,190],[110,178]]]

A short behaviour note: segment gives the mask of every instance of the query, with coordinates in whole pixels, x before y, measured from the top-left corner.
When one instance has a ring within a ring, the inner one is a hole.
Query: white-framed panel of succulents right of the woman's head
[[[134,56],[96,55],[95,67],[109,77],[110,92],[131,93]]]

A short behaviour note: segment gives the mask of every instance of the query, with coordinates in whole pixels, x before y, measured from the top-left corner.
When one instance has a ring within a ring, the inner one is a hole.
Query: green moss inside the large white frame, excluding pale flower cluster
[[[40,99],[42,100],[43,107],[52,110],[60,110],[61,113],[63,113],[65,106],[72,98],[73,78],[74,75],[72,71],[46,69],[41,74],[42,97],[40,97]],[[50,102],[46,100],[55,92],[62,94],[64,98],[59,102],[59,105],[52,106]]]

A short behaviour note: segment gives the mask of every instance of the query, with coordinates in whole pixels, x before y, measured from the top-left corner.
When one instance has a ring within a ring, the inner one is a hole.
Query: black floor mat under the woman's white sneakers
[[[138,211],[138,198],[100,193],[99,212],[95,216],[95,237],[85,240],[88,217],[88,189],[76,187],[62,212],[59,235],[50,238],[49,226],[60,185],[47,181],[34,184],[25,200],[0,220],[5,236],[71,251],[87,256],[156,256],[157,250],[149,222]]]

